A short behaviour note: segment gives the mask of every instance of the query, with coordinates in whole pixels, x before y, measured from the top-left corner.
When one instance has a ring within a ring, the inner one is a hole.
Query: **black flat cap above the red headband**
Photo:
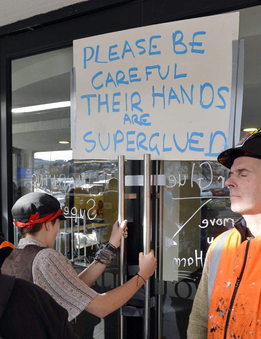
[[[32,214],[39,212],[39,218],[43,218],[51,213],[57,212],[59,208],[61,208],[59,200],[50,194],[31,192],[17,200],[12,208],[12,215],[15,220],[29,220]],[[66,220],[62,214],[58,216],[58,218],[60,220]]]

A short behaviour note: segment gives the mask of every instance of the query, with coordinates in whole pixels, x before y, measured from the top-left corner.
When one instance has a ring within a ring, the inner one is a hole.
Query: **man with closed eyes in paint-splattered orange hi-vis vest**
[[[261,338],[261,128],[217,160],[230,169],[231,210],[242,217],[207,252],[188,339]]]

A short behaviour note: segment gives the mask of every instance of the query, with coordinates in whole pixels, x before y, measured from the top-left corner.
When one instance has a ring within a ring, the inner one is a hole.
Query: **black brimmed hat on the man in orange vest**
[[[261,159],[261,128],[257,128],[255,131],[247,133],[235,147],[221,152],[217,157],[217,160],[223,166],[230,169],[234,160],[239,157]]]

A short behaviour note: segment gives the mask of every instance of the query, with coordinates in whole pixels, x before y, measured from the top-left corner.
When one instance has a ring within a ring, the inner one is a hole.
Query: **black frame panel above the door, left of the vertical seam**
[[[73,40],[122,31],[140,25],[139,1],[67,20],[6,39],[7,58],[41,53],[72,45]]]

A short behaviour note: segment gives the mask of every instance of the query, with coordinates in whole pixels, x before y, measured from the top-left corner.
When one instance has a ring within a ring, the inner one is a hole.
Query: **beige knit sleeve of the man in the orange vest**
[[[208,276],[209,249],[189,317],[187,339],[207,339],[208,337]]]

